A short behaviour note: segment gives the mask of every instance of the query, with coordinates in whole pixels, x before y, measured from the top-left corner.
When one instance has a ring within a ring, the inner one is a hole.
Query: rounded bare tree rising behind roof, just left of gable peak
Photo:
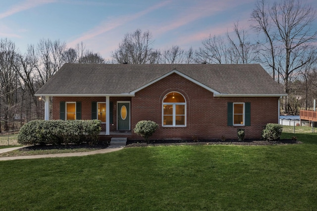
[[[127,33],[122,42],[119,43],[118,49],[111,52],[114,63],[146,64],[156,59],[153,56],[152,35],[149,31],[143,32],[137,29],[133,33]]]

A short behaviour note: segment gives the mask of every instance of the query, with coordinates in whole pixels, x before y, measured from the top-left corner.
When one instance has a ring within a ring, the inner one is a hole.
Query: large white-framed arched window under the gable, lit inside
[[[186,101],[182,94],[170,92],[163,99],[163,127],[186,126]]]

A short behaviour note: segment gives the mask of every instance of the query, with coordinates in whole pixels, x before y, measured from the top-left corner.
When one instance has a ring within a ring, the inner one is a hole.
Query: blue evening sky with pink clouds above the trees
[[[269,0],[272,4],[274,0]],[[41,39],[66,42],[110,59],[126,33],[150,31],[153,48],[198,49],[210,35],[249,26],[256,0],[0,0],[0,39],[21,53]],[[307,0],[317,9],[317,0]],[[316,24],[317,26],[317,24]]]

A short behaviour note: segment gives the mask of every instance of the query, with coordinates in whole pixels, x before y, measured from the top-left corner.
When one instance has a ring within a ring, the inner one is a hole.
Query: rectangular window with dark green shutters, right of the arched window
[[[251,126],[251,103],[228,102],[228,126]]]

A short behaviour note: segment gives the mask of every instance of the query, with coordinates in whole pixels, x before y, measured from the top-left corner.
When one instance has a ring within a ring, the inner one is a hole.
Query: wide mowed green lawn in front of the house
[[[2,161],[0,210],[317,210],[317,133],[295,136]]]

